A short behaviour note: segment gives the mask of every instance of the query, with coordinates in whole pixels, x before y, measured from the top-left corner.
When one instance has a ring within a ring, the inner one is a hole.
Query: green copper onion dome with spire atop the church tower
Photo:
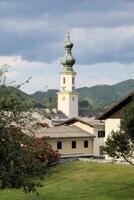
[[[65,55],[61,59],[61,64],[64,66],[64,71],[73,71],[73,65],[75,59],[72,56],[73,43],[70,41],[70,35],[68,33],[67,39],[65,41]]]

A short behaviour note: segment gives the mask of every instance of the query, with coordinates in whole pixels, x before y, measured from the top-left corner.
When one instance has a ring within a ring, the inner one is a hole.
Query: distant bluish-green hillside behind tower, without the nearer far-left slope
[[[96,85],[93,87],[78,88],[79,101],[88,101],[89,106],[98,109],[109,106],[129,92],[134,90],[134,80],[129,79],[115,85]],[[31,97],[37,102],[44,104],[47,101],[51,101],[52,104],[57,101],[58,90],[48,90],[47,92],[36,92]],[[53,105],[52,105],[53,107]]]

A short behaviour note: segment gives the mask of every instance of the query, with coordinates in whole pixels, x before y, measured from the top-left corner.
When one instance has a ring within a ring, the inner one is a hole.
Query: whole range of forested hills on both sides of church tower
[[[120,100],[132,90],[134,90],[134,79],[129,79],[115,85],[96,85],[93,87],[78,88],[79,107],[86,107],[90,110],[104,109]],[[28,95],[13,87],[0,86],[0,97],[8,93],[19,96],[22,100],[33,101],[35,107],[53,108],[57,105],[57,91],[56,89],[52,89]]]

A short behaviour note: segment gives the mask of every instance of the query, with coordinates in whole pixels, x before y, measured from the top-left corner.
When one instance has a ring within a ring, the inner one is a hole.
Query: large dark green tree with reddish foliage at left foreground
[[[5,83],[3,75],[4,71],[1,73],[2,84]],[[31,177],[42,177],[48,166],[57,162],[58,153],[47,144],[46,138],[37,139],[32,134],[31,120],[29,105],[25,101],[11,93],[0,98],[1,189],[35,191],[41,184]]]

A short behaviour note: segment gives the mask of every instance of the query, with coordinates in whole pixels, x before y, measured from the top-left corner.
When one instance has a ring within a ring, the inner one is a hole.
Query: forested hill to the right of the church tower
[[[96,85],[79,88],[80,100],[87,100],[91,105],[109,105],[134,90],[134,80],[129,79],[115,85]]]

